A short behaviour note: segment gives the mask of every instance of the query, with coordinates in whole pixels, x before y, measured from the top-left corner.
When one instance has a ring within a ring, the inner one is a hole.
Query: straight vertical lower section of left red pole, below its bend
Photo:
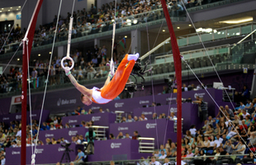
[[[27,90],[27,52],[23,40],[22,53],[22,92],[21,92],[21,165],[26,165],[26,90]]]

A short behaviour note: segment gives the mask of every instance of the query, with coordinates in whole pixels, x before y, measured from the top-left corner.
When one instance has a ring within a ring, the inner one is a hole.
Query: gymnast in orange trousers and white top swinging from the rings
[[[137,61],[139,57],[139,53],[136,54],[126,54],[117,67],[116,74],[113,72],[109,72],[107,76],[107,80],[101,89],[97,87],[93,87],[92,89],[88,89],[83,85],[79,85],[77,80],[72,76],[69,71],[69,67],[65,67],[64,71],[66,76],[69,77],[71,83],[81,92],[81,100],[85,105],[91,105],[93,103],[109,103],[112,99],[115,99],[123,89],[126,87],[126,82],[129,79],[130,72],[135,65],[135,61]],[[126,66],[126,63],[128,65]],[[111,79],[112,78],[112,79]]]

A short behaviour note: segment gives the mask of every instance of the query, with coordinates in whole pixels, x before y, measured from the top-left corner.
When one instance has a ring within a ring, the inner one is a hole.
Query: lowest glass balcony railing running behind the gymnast
[[[256,53],[255,41],[256,39],[244,41],[237,44],[233,49],[228,47],[228,45],[207,48],[208,54],[210,55],[213,64],[216,66],[216,71],[237,70],[243,68],[247,68],[248,70],[254,69],[256,63],[255,58],[250,60],[246,55]],[[206,56],[203,49],[183,52],[181,54],[196,74],[204,74],[214,71],[210,59]],[[148,68],[151,66],[153,67],[153,80],[161,80],[174,74],[172,56],[172,54],[169,54],[156,57],[156,63],[148,66]],[[188,70],[188,67],[184,62],[182,64],[182,68],[183,76],[192,75],[192,72]],[[96,67],[95,70],[95,72],[80,71],[83,76],[78,76],[78,70],[73,71],[72,74],[75,78],[81,80],[81,83],[83,84],[90,85],[93,83],[104,82],[106,80],[109,67]],[[28,84],[31,85],[32,93],[44,90],[45,78],[45,76],[39,76],[36,79],[30,80],[30,83]],[[151,80],[151,74],[149,74],[149,72],[145,74],[145,80]],[[70,80],[64,76],[64,71],[62,70],[60,70],[59,75],[50,76],[49,83],[49,89],[72,86],[72,84],[70,84]],[[9,80],[8,83],[4,82],[0,87],[0,97],[10,97],[12,95],[21,94],[21,81],[17,79]]]

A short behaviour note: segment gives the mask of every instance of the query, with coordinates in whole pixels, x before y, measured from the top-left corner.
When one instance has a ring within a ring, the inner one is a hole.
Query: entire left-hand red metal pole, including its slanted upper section
[[[31,47],[33,44],[36,29],[37,16],[44,0],[38,0],[31,17],[31,22],[26,30],[23,39],[22,57],[22,93],[21,93],[21,165],[26,165],[26,91],[27,91],[27,60],[31,57]],[[26,43],[27,40],[27,43]],[[28,56],[27,56],[28,54]],[[28,58],[28,59],[27,59]]]

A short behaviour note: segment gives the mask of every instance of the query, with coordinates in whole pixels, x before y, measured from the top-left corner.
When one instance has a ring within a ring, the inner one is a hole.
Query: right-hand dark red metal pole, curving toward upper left
[[[164,10],[164,16],[168,25],[173,49],[173,60],[177,80],[177,164],[182,161],[182,62],[178,49],[177,39],[174,34],[172,21],[170,19],[165,0],[161,0]]]

